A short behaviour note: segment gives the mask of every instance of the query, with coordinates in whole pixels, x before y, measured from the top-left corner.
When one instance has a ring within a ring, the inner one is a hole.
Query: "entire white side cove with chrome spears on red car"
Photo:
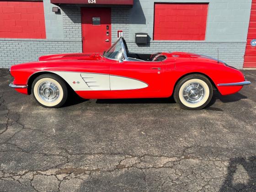
[[[50,71],[61,76],[75,91],[109,91],[143,89],[148,85],[140,80],[107,74]]]

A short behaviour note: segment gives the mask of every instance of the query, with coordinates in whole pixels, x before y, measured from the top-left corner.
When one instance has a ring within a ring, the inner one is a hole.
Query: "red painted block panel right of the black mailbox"
[[[154,40],[205,40],[208,4],[156,3]]]

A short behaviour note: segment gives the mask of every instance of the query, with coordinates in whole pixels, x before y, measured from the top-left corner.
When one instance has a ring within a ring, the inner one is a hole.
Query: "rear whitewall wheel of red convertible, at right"
[[[213,96],[213,86],[203,75],[192,74],[182,78],[176,85],[174,99],[181,108],[199,110],[206,107]]]

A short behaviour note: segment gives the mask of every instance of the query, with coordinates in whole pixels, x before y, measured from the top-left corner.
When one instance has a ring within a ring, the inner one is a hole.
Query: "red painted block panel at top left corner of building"
[[[0,1],[0,38],[46,38],[43,1]]]

